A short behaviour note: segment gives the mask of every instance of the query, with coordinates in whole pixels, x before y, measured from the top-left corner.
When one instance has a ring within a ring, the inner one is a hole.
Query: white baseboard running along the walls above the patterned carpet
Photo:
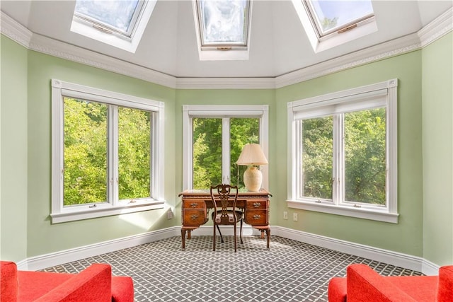
[[[220,228],[222,234],[231,236],[233,230],[231,227]],[[367,259],[388,263],[389,265],[396,265],[406,269],[413,269],[418,272],[423,272],[427,275],[435,275],[438,273],[439,266],[435,265],[428,260],[421,257],[406,255],[401,252],[393,252],[391,250],[384,250],[381,248],[374,248],[367,245],[358,243],[351,243],[345,240],[338,240],[326,236],[319,236],[312,233],[296,231],[291,228],[284,228],[282,226],[271,226],[271,236],[280,236],[289,238],[303,243],[317,245],[322,248],[329,248],[331,250],[338,250],[351,255],[364,257]],[[238,227],[239,231],[239,227]],[[243,236],[258,236],[260,231],[252,228],[249,225],[243,226]],[[192,236],[211,236],[212,226],[201,226],[192,231]],[[59,252],[52,252],[46,255],[28,258],[18,262],[19,269],[25,270],[38,270],[45,267],[52,267],[61,265],[63,263],[81,260],[86,257],[93,257],[101,255],[105,252],[114,252],[123,248],[131,248],[136,245],[149,243],[156,240],[162,240],[173,236],[180,236],[180,226],[173,226],[171,228],[164,228],[158,231],[150,231],[134,236],[127,236],[115,240],[108,240],[102,243],[95,243],[92,245],[85,245],[79,248],[72,248],[70,250],[62,250]],[[187,248],[187,247],[186,247]],[[270,248],[272,248],[272,238]]]

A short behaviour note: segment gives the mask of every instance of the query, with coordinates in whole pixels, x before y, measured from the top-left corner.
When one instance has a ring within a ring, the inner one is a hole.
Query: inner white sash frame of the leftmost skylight
[[[132,39],[134,36],[135,30],[137,29],[137,23],[140,20],[141,16],[143,15],[144,8],[146,7],[147,1],[138,0],[137,6],[134,9],[134,13],[132,13],[132,18],[130,20],[129,26],[126,30],[122,30],[117,28],[113,25],[106,23],[103,20],[93,18],[92,16],[88,16],[84,13],[79,13],[74,9],[74,21],[78,21],[84,23],[89,26],[93,26],[98,30],[103,30],[105,33],[114,33],[118,37],[123,37],[126,39]]]

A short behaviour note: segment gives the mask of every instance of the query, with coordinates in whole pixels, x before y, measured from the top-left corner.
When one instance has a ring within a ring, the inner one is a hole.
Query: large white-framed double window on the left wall
[[[164,104],[52,80],[52,223],[163,207]]]

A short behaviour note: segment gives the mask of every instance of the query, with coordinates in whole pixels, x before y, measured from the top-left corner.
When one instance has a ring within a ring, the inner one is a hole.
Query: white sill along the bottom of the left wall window
[[[153,201],[147,203],[137,203],[134,205],[120,205],[117,207],[99,207],[99,208],[89,208],[88,205],[80,207],[80,209],[71,211],[62,211],[59,213],[52,213],[50,217],[53,223],[62,223],[68,221],[77,221],[83,219],[92,219],[98,217],[119,215],[119,214],[128,214],[138,211],[148,211],[154,209],[164,209],[165,201]]]

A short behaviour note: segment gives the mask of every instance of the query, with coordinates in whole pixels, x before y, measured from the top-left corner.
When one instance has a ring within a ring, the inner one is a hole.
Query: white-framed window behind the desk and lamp
[[[236,165],[242,147],[260,144],[268,153],[267,105],[183,107],[184,189],[229,183],[243,188],[246,166]],[[261,166],[268,187],[267,166]]]

